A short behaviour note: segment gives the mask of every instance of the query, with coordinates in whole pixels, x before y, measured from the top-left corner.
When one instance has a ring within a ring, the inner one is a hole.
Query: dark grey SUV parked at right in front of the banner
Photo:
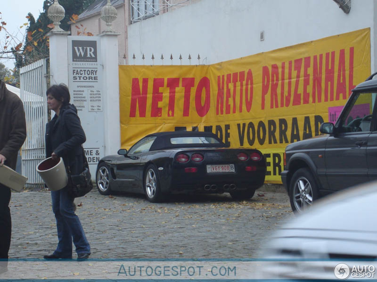
[[[319,197],[377,179],[377,79],[372,74],[352,90],[335,125],[322,135],[285,148],[282,182],[294,212]]]

